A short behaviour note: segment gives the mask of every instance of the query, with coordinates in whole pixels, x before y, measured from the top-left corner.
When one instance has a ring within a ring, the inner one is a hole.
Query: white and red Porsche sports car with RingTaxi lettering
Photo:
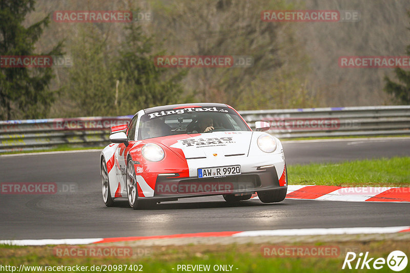
[[[178,198],[223,195],[229,202],[280,202],[288,186],[280,141],[220,103],[176,104],[138,111],[111,128],[101,152],[106,206],[128,199],[134,209]]]

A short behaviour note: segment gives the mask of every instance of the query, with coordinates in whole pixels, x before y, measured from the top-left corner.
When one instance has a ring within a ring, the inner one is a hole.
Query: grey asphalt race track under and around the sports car
[[[410,138],[284,143],[287,164],[410,156]],[[382,171],[382,170],[381,170]],[[0,156],[0,183],[74,185],[73,193],[0,195],[0,239],[104,238],[178,233],[410,225],[410,203],[286,199],[228,205],[221,196],[134,211],[104,206],[99,152]],[[410,183],[410,181],[409,181]],[[292,181],[290,181],[292,184]],[[58,188],[58,187],[57,187]]]

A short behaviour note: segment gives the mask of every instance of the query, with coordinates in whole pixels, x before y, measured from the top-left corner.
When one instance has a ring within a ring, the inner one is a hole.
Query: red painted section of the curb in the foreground
[[[137,236],[137,237],[116,237],[104,238],[95,243],[112,243],[122,241],[139,241],[149,239],[170,239],[170,238],[192,238],[192,237],[228,237],[234,234],[241,233],[240,231],[222,231],[222,232],[201,232],[201,233],[187,233],[187,234],[172,234],[159,236]]]

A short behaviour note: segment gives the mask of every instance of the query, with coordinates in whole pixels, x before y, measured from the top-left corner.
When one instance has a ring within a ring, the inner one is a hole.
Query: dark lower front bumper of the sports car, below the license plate
[[[221,194],[251,194],[257,191],[284,190],[279,186],[275,167],[219,178],[158,176],[153,197],[138,199],[171,201],[178,198],[211,196]]]

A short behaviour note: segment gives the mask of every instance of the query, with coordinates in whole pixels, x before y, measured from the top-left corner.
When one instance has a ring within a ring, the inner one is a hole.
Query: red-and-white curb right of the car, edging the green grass
[[[410,202],[410,188],[289,185],[286,198],[353,202]]]

